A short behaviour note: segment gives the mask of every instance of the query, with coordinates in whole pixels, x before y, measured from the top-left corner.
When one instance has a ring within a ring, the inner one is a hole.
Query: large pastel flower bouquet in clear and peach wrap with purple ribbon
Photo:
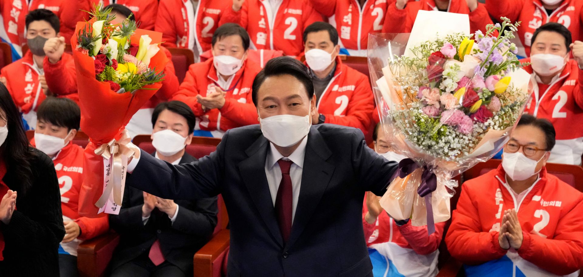
[[[434,23],[411,34],[370,34],[368,65],[385,137],[409,157],[381,206],[432,233],[449,219],[458,186],[451,178],[503,148],[532,83],[509,41],[519,23],[502,18],[469,34],[467,15],[420,12],[417,20]]]

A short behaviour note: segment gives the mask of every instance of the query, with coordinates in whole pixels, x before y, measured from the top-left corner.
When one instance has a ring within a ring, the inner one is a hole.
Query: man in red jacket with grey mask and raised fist
[[[0,70],[0,80],[12,95],[30,129],[36,126],[36,110],[47,95],[78,101],[75,63],[64,53],[59,19],[50,10],[31,10],[26,15],[29,51],[22,59]]]

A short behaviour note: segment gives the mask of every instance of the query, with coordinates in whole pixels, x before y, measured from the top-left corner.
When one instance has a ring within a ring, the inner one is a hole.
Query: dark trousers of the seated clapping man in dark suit
[[[164,261],[158,266],[147,257],[147,251],[138,258],[115,268],[111,277],[186,277],[187,275],[177,266]],[[192,275],[192,272],[191,274]]]

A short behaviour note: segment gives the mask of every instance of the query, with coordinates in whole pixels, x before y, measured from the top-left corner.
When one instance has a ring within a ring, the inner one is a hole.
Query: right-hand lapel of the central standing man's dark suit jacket
[[[311,127],[308,142],[305,147],[304,166],[301,175],[300,197],[296,207],[290,239],[285,250],[296,242],[303,232],[311,215],[314,214],[322,194],[334,172],[334,166],[326,162],[332,155],[328,145],[315,127]]]

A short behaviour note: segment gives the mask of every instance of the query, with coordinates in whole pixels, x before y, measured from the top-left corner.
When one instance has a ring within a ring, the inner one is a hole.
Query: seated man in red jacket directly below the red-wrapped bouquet
[[[79,106],[67,98],[47,98],[38,107],[38,121],[34,130],[33,146],[43,151],[55,164],[61,187],[61,209],[65,237],[59,244],[61,276],[78,276],[77,247],[109,229],[107,217],[79,216],[77,205],[83,182],[83,148],[72,140],[79,130]]]

